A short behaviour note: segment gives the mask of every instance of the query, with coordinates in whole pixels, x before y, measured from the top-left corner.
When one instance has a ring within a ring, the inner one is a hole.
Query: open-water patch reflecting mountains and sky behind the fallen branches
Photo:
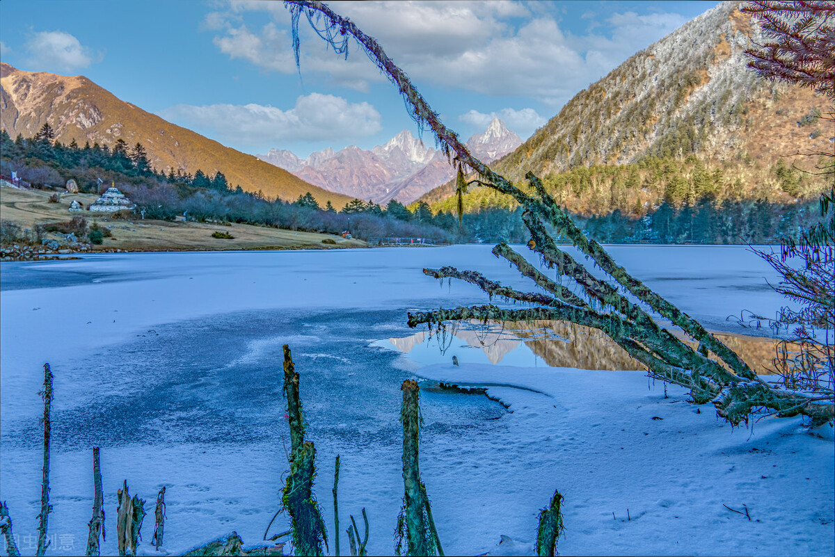
[[[694,349],[698,343],[673,331]],[[772,374],[772,358],[777,340],[739,334],[713,333],[728,348],[739,354],[757,374]],[[466,344],[456,344],[455,340]],[[426,331],[402,339],[388,339],[388,344],[410,353],[417,364],[447,363],[456,355],[461,361],[478,362],[471,350],[480,349],[491,364],[535,365],[538,359],[555,368],[645,369],[624,349],[598,329],[565,321],[534,321],[481,324],[477,322],[450,327],[446,333]],[[463,355],[462,355],[463,354]],[[716,359],[710,354],[712,359]]]

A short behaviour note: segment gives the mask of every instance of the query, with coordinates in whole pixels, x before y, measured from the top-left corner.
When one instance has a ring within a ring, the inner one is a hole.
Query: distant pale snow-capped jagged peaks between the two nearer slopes
[[[504,122],[493,118],[484,133],[473,135],[467,147],[484,161],[493,161],[515,148],[522,139]],[[410,203],[453,177],[455,170],[443,153],[403,130],[385,145],[364,150],[353,145],[327,148],[298,158],[291,151],[270,149],[256,155],[306,182],[354,198],[387,203]]]

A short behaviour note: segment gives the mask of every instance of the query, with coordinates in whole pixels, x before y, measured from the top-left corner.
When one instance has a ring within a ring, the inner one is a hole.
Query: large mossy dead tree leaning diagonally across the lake
[[[569,214],[559,207],[533,173],[528,173],[526,176],[532,193],[525,193],[507,178],[493,172],[486,164],[473,157],[458,139],[458,135],[441,122],[438,113],[433,112],[423,96],[412,86],[406,74],[397,68],[391,58],[388,58],[377,41],[362,33],[351,20],[343,18],[317,0],[288,0],[287,3],[291,4],[296,64],[299,62],[298,21],[302,13],[311,24],[321,25],[319,19],[314,22],[317,13],[324,16],[325,30],[321,31],[316,25],[314,27],[320,30],[320,36],[326,38],[337,52],[347,53],[347,35],[356,38],[381,72],[397,85],[412,111],[412,118],[419,125],[432,130],[443,153],[451,159],[451,162],[458,164],[459,170],[469,168],[474,171],[475,178],[469,183],[477,183],[505,193],[522,206],[524,223],[531,233],[529,247],[539,253],[550,266],[556,267],[559,274],[573,279],[583,290],[586,298],[586,300],[579,299],[568,289],[524,262],[518,253],[512,253],[512,250],[500,244],[497,246],[499,250],[497,255],[509,258],[520,272],[532,278],[539,287],[554,294],[554,297],[518,293],[456,269],[448,272],[443,272],[444,269],[426,269],[425,273],[438,278],[447,276],[465,280],[473,278],[481,281],[479,286],[487,290],[489,294],[505,299],[521,300],[540,307],[534,308],[537,311],[531,314],[524,313],[530,310],[513,312],[494,306],[414,314],[409,315],[409,324],[412,327],[422,323],[443,324],[444,321],[460,319],[524,320],[526,315],[534,314],[545,316],[538,319],[572,321],[604,331],[629,354],[645,364],[650,371],[650,376],[691,389],[693,398],[697,402],[704,403],[712,400],[718,414],[733,424],[746,420],[746,412],[756,407],[774,409],[780,415],[807,414],[816,422],[835,419],[835,414],[833,414],[835,405],[830,404],[831,401],[819,400],[801,391],[780,389],[765,384],[736,353],[708,333],[695,319],[627,273],[625,268],[615,263],[615,260],[599,243],[585,237],[582,231],[574,225]],[[459,194],[463,191],[462,183],[466,185],[463,179],[458,179]],[[631,304],[610,284],[593,278],[581,264],[557,248],[554,238],[547,233],[543,223],[553,225],[559,233],[570,238],[572,243],[592,258],[595,264],[608,273],[615,283],[634,294],[642,304],[648,306],[656,314],[670,319],[673,324],[715,354],[716,358],[721,360],[721,364],[698,354],[676,339],[669,331],[661,329],[655,324],[650,314],[636,304]]]

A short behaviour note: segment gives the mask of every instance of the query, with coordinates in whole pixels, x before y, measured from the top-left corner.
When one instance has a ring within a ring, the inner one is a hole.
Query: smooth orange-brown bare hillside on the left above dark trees
[[[351,200],[296,178],[258,158],[225,147],[189,129],[180,128],[133,104],[125,103],[83,76],[23,72],[0,64],[0,127],[12,138],[32,137],[49,123],[61,143],[113,146],[122,138],[129,146],[142,143],[151,165],[167,172],[182,168],[209,176],[220,171],[227,181],[268,198],[296,200],[306,192],[324,205],[342,207]]]

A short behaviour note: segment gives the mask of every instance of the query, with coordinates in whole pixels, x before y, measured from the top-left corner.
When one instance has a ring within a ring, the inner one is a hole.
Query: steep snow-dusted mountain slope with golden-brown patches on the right
[[[780,160],[813,171],[817,158],[798,152],[832,153],[832,125],[818,119],[831,102],[747,68],[745,49],[765,39],[740,7],[721,3],[635,53],[577,93],[493,170],[519,182],[529,171],[545,178],[692,156],[740,178],[750,197],[775,187],[766,170]],[[446,183],[423,200],[435,203],[453,192]]]

